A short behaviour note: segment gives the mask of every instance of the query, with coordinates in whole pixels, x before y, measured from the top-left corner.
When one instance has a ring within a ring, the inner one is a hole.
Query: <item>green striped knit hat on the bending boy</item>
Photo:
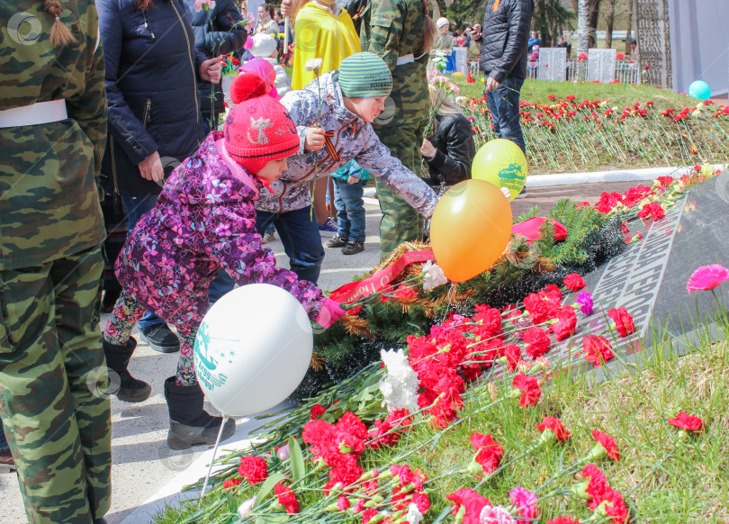
[[[392,75],[377,55],[355,53],[339,66],[339,86],[347,98],[387,96],[392,91]]]

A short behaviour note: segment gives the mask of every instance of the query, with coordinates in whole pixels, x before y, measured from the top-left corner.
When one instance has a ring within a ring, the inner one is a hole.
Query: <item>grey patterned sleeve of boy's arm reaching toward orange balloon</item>
[[[409,203],[425,218],[430,218],[436,210],[438,197],[428,184],[419,176],[402,165],[402,162],[392,157],[374,133],[372,126],[362,128],[365,148],[356,155],[356,162],[369,171],[372,176],[379,178],[405,202]]]

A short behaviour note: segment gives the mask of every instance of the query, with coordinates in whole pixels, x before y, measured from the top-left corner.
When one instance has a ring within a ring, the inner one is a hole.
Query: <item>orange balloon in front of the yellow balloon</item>
[[[438,266],[454,282],[482,274],[499,259],[511,238],[511,206],[485,180],[451,187],[430,221],[430,243]]]

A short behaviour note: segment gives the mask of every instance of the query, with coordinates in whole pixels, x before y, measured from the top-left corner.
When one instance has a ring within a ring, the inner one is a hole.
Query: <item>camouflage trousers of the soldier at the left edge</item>
[[[101,248],[0,271],[0,416],[31,524],[81,524],[111,501]]]

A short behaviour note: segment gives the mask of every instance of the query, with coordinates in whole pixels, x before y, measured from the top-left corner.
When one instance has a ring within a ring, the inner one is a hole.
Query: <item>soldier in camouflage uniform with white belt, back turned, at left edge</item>
[[[0,4],[0,416],[32,524],[110,503],[97,35],[93,0]]]

